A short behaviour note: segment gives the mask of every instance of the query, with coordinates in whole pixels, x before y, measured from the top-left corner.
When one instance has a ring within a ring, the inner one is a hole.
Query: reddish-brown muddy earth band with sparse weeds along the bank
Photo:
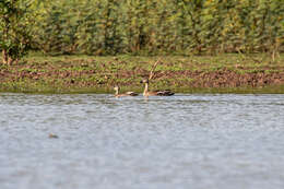
[[[88,67],[82,64],[82,68]],[[63,69],[62,69],[63,68]],[[132,70],[111,69],[96,70],[72,70],[73,66],[54,67],[52,64],[20,64],[11,68],[0,69],[0,90],[4,83],[38,83],[51,85],[57,88],[113,88],[115,84],[128,87],[140,86],[138,80],[149,75],[149,70],[137,67]],[[249,67],[236,66],[217,70],[165,70],[155,71],[152,87],[161,87],[167,81],[166,86],[178,87],[262,87],[270,85],[284,85],[284,67]]]

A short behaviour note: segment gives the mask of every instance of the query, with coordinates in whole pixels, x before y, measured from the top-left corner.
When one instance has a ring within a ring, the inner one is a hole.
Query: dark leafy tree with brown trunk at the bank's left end
[[[21,0],[0,1],[0,49],[4,64],[17,62],[31,49],[29,5]]]

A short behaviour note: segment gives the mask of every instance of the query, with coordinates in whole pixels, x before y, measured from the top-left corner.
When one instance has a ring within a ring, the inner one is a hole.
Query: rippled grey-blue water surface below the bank
[[[1,94],[0,188],[283,189],[284,95]]]

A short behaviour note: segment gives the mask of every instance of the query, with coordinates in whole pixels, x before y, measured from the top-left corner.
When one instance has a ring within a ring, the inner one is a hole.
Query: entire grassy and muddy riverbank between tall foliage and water
[[[284,55],[275,62],[261,55],[91,57],[31,55],[0,67],[0,91],[23,93],[142,92],[153,63],[161,59],[151,88],[176,93],[284,93]]]

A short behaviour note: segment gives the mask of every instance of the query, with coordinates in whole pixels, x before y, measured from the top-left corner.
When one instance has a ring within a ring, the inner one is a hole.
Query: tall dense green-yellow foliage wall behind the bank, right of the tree
[[[50,54],[154,55],[284,50],[283,0],[46,0],[34,48]]]

